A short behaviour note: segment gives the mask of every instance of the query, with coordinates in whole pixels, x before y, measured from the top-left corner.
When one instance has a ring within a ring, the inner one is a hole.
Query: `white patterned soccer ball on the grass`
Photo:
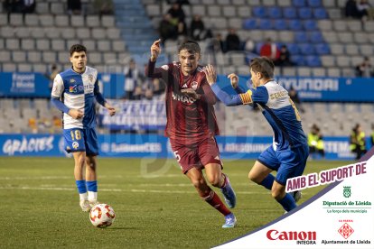
[[[105,228],[111,226],[116,218],[116,213],[108,204],[98,204],[89,211],[89,220],[93,226]]]

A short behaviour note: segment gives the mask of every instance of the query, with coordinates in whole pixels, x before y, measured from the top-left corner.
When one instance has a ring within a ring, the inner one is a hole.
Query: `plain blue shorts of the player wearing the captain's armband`
[[[285,186],[287,179],[301,176],[309,155],[307,144],[300,144],[292,149],[274,151],[273,146],[262,152],[257,161],[267,168],[277,171],[276,182]]]

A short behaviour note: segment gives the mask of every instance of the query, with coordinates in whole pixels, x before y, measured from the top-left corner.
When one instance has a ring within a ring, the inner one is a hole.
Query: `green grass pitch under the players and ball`
[[[237,192],[238,227],[207,205],[173,160],[98,158],[98,200],[116,211],[99,229],[81,212],[68,158],[0,158],[1,248],[209,248],[283,215],[263,187],[248,181],[254,161],[225,161]],[[304,174],[349,164],[309,161]],[[325,186],[303,191],[301,202]],[[216,189],[218,193],[220,191]]]

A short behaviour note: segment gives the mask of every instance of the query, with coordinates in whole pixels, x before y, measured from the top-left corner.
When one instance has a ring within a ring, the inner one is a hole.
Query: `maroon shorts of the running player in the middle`
[[[199,143],[178,143],[178,139],[170,139],[170,143],[183,174],[193,167],[202,168],[209,163],[217,163],[222,166],[220,151],[214,136],[201,140]]]

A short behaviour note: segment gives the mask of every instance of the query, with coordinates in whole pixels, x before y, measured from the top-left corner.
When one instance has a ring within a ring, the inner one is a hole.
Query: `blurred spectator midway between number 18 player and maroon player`
[[[128,66],[124,69],[125,74],[125,99],[135,99],[136,96],[139,95],[136,86],[139,80],[139,70],[136,68],[136,61],[130,60]]]

